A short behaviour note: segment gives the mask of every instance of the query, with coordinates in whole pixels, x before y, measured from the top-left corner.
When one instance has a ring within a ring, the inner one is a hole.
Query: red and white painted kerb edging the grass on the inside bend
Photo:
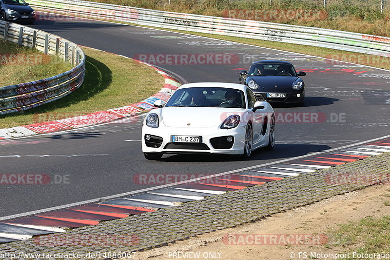
[[[165,73],[164,71],[159,70],[148,63],[139,60],[135,61],[152,67],[165,78],[163,88],[159,92],[154,94],[152,97],[149,97],[135,104],[117,107],[106,111],[95,112],[88,115],[0,129],[0,140],[69,130],[100,123],[106,123],[125,117],[136,116],[143,112],[148,112],[152,110],[154,108],[153,103],[156,100],[167,101],[170,96],[175,92],[175,90],[180,86],[180,83],[168,73]]]

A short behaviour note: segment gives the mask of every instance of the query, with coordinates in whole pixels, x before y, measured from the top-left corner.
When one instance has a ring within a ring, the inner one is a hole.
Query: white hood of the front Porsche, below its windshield
[[[164,107],[161,118],[168,127],[203,128],[218,126],[229,116],[244,111],[226,107]]]

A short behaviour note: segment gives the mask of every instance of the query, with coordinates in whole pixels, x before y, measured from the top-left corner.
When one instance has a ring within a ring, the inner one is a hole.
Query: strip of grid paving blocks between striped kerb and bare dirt
[[[345,183],[343,180],[351,180],[351,175],[359,177],[359,184],[339,184]],[[16,254],[13,255],[15,259],[47,259],[43,255],[40,258],[28,258],[18,254],[60,253],[63,255],[59,254],[52,259],[98,259],[99,256],[101,259],[115,259],[123,256],[115,254],[123,252],[128,253],[128,259],[132,259],[134,254],[130,252],[148,250],[176,240],[254,222],[287,209],[388,182],[389,178],[390,153],[384,153],[297,177],[186,202],[176,207],[104,221],[96,226],[75,228],[63,234],[0,244],[0,255],[3,254],[3,259],[11,259],[10,255],[7,258],[7,253]],[[338,184],[332,184],[335,182]],[[88,253],[97,255],[86,255]]]

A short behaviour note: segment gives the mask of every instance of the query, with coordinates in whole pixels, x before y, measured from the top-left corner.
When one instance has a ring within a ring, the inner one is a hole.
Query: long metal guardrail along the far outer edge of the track
[[[159,28],[311,45],[379,56],[390,55],[390,38],[374,35],[156,11],[81,0],[29,0],[29,2],[36,10],[54,13],[45,19],[60,19],[59,15],[68,15],[79,19],[128,21]]]

